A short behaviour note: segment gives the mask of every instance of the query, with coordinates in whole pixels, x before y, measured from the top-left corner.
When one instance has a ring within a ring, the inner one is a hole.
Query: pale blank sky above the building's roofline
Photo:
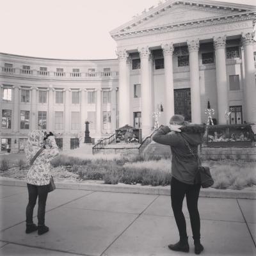
[[[256,0],[223,2],[256,6]],[[0,52],[42,58],[113,59],[116,43],[109,32],[158,3],[159,0],[0,0]]]

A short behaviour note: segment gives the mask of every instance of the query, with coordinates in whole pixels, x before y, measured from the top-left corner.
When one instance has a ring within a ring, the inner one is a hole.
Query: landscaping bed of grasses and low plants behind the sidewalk
[[[1,177],[19,180],[26,179],[28,166],[24,161],[16,167],[8,168],[2,159]],[[243,189],[256,185],[256,163],[234,160],[204,161],[211,166],[214,179],[212,188]],[[83,180],[102,180],[104,184],[141,184],[150,186],[170,185],[172,175],[171,159],[143,156],[125,157],[108,155],[84,156],[83,159],[60,155],[52,161],[52,175],[56,181],[81,182]],[[4,168],[3,168],[4,167]]]

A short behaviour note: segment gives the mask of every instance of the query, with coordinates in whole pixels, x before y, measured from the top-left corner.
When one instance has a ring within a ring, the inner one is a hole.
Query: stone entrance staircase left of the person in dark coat
[[[148,146],[143,151],[143,155],[146,157],[154,157],[154,156],[161,156],[161,157],[171,157],[172,151],[170,146],[163,145],[152,141],[148,144]]]

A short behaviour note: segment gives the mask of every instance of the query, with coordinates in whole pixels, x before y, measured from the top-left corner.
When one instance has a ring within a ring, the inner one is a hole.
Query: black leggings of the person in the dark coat
[[[186,220],[182,212],[182,203],[185,195],[193,232],[193,239],[200,239],[200,216],[197,207],[199,192],[200,184],[189,185],[172,177],[172,209],[181,239],[188,236],[186,230]]]

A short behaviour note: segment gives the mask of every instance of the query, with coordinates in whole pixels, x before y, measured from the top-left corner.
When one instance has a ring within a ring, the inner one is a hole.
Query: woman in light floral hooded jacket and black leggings
[[[49,231],[45,226],[45,204],[49,191],[49,183],[51,179],[51,164],[50,161],[58,155],[58,146],[54,136],[47,137],[44,140],[44,132],[34,130],[29,132],[28,142],[25,146],[25,154],[28,163],[35,156],[40,148],[44,148],[36,157],[31,165],[27,176],[29,202],[26,208],[26,234],[38,230],[38,235],[42,235]],[[38,197],[38,227],[33,223],[33,210]]]

